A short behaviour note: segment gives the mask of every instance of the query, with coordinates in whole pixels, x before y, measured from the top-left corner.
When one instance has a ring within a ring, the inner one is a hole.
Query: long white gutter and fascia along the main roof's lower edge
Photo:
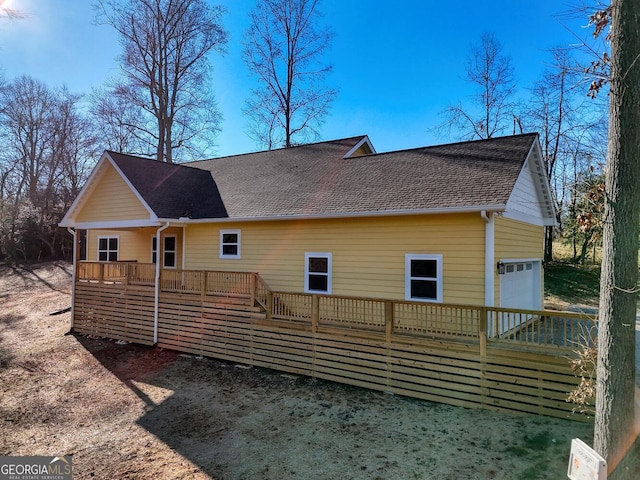
[[[282,220],[323,220],[337,218],[396,217],[408,215],[443,215],[448,213],[503,212],[504,205],[479,205],[473,207],[428,208],[421,210],[379,210],[375,212],[349,212],[323,215],[283,215],[273,217],[225,217],[173,220],[175,224],[229,223],[229,222],[270,222]],[[165,219],[159,219],[165,221]]]

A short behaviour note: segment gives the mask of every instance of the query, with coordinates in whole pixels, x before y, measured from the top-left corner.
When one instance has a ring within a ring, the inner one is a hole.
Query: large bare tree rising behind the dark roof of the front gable
[[[208,55],[222,52],[222,7],[205,0],[98,0],[98,19],[120,35],[123,79],[112,90],[138,109],[137,138],[157,160],[212,143],[220,116],[209,88]],[[114,118],[118,125],[121,121]],[[202,145],[202,144],[200,144]]]

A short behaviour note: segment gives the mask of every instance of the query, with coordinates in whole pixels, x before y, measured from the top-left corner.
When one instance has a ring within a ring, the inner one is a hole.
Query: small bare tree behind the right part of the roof
[[[454,130],[466,139],[491,138],[517,123],[513,95],[515,80],[510,57],[502,54],[502,45],[493,33],[484,33],[480,44],[471,46],[466,65],[467,80],[477,93],[472,104],[449,106],[439,129]],[[514,125],[515,130],[515,125]]]

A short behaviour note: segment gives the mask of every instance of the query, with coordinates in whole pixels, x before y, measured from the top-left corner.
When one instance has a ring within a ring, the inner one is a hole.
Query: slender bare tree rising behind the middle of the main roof
[[[251,12],[244,60],[260,87],[245,113],[250,134],[267,148],[318,137],[336,96],[324,85],[331,67],[321,61],[333,35],[319,18],[318,0],[259,0]]]

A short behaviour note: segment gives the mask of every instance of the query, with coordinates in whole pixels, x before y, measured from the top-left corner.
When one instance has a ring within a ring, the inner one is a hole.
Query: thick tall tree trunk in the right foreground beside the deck
[[[640,218],[640,2],[612,0],[611,6],[610,124],[594,434],[594,448],[607,459],[610,472],[636,435],[634,372]]]

